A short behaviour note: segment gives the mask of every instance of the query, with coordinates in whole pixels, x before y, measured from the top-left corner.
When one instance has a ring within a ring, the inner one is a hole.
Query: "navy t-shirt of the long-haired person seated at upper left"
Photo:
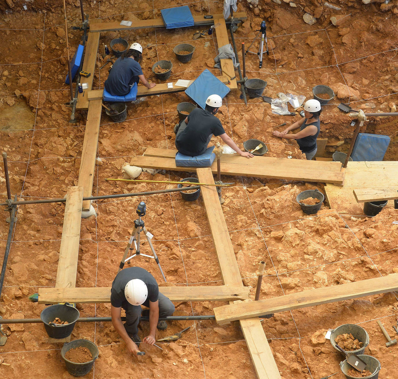
[[[130,92],[130,86],[142,75],[140,64],[131,57],[117,58],[113,63],[105,89],[111,95],[124,96]]]

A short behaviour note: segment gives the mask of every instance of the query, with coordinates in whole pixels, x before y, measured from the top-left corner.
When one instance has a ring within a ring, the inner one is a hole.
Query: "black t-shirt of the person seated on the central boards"
[[[203,154],[207,149],[207,139],[211,134],[224,134],[220,120],[211,112],[196,108],[188,115],[188,124],[176,137],[178,151],[195,157]]]

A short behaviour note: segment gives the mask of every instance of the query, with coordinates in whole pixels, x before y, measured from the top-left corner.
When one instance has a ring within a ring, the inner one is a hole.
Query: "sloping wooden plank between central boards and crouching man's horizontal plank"
[[[214,183],[211,169],[197,169],[196,173],[200,183]],[[238,263],[236,263],[234,248],[222,213],[217,189],[216,187],[202,186],[201,191],[211,236],[219,260],[222,280],[227,285],[242,285],[242,278]]]

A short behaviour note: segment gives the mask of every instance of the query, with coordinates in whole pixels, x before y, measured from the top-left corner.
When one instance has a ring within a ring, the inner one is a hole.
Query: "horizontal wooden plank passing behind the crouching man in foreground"
[[[172,301],[228,301],[249,298],[249,288],[238,286],[159,287],[159,291]],[[111,287],[39,288],[40,304],[109,303]]]

